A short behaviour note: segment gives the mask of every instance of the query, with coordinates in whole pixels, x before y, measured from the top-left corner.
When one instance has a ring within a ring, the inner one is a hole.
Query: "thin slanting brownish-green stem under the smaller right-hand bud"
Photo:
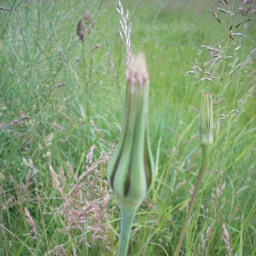
[[[202,160],[201,160],[200,172],[199,172],[198,177],[197,177],[197,181],[196,181],[196,184],[195,184],[195,189],[194,189],[191,201],[189,203],[189,211],[187,212],[187,215],[186,215],[186,218],[185,218],[185,221],[184,221],[184,224],[183,224],[183,230],[182,230],[181,235],[179,237],[174,256],[178,256],[178,254],[181,250],[181,247],[183,245],[183,240],[184,240],[186,230],[187,230],[188,224],[189,224],[189,218],[190,218],[190,215],[191,215],[191,213],[193,211],[193,208],[194,208],[194,205],[195,205],[196,195],[197,195],[198,190],[200,188],[202,177],[204,176],[204,173],[207,169],[207,162],[208,162],[208,155],[209,155],[210,147],[209,146],[201,146],[201,149],[202,149]]]

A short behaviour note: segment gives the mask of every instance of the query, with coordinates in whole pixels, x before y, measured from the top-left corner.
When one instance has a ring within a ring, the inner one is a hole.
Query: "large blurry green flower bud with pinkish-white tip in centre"
[[[125,115],[119,144],[108,166],[108,181],[120,206],[139,206],[154,182],[148,139],[148,71],[143,55],[128,70]]]

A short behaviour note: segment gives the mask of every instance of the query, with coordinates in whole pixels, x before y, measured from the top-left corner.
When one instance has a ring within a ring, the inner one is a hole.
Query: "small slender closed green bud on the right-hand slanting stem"
[[[200,144],[210,146],[213,143],[213,113],[212,113],[212,93],[203,92],[200,109]]]

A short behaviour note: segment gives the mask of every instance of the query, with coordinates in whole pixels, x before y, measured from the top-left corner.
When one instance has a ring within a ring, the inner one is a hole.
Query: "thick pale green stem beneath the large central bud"
[[[131,234],[131,226],[132,226],[135,213],[137,212],[137,208],[138,208],[137,206],[136,207],[120,206],[121,235],[119,238],[119,251],[117,254],[118,256],[126,256],[127,254],[130,234]]]

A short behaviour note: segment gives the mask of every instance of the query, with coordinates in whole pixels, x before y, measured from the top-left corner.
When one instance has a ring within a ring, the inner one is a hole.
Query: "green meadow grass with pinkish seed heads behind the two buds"
[[[228,2],[122,1],[133,54],[147,59],[154,160],[160,145],[129,255],[175,252],[201,164],[202,91],[213,95],[214,143],[181,255],[231,255],[228,244],[232,255],[256,255],[255,2],[247,16],[239,8],[250,4]],[[0,255],[114,255],[120,215],[106,172],[125,104],[116,3],[0,5],[12,10],[0,10]],[[87,9],[82,42],[76,27]],[[230,25],[244,36],[232,40]],[[213,58],[202,45],[231,58]],[[195,66],[215,79],[187,73]]]

